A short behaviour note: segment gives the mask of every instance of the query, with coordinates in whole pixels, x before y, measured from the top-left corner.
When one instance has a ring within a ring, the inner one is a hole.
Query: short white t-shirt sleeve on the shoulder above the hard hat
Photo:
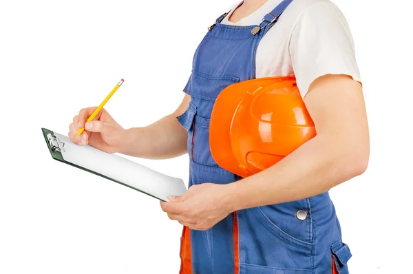
[[[303,97],[311,83],[326,74],[346,74],[361,83],[350,28],[333,3],[315,3],[301,14],[289,50]]]

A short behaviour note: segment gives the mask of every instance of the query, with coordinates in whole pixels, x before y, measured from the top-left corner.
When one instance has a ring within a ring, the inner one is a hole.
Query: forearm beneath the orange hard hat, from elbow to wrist
[[[366,143],[315,136],[273,167],[228,185],[229,202],[240,210],[328,191],[363,173],[368,162]]]

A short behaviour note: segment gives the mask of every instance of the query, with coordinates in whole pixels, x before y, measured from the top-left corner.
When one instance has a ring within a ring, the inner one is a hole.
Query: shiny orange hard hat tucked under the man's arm
[[[222,90],[211,114],[209,143],[220,167],[248,177],[315,135],[295,77],[268,77]]]

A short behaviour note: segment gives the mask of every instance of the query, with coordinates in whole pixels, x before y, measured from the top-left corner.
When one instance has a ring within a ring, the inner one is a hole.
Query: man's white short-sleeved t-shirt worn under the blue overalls
[[[264,16],[282,0],[268,0],[258,10],[233,23],[260,25]],[[229,10],[226,10],[228,12]],[[354,42],[341,10],[329,0],[294,0],[279,21],[260,41],[256,56],[256,78],[295,75],[301,96],[310,84],[325,74],[347,74],[361,82]]]

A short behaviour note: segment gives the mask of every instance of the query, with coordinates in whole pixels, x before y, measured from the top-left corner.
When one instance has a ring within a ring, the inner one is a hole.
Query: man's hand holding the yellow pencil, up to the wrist
[[[116,123],[105,109],[102,109],[94,120],[86,123],[95,109],[96,107],[87,107],[74,116],[69,127],[69,138],[77,145],[91,145],[108,153],[120,151],[126,130]],[[85,127],[83,133],[76,136],[78,129],[82,127]]]

